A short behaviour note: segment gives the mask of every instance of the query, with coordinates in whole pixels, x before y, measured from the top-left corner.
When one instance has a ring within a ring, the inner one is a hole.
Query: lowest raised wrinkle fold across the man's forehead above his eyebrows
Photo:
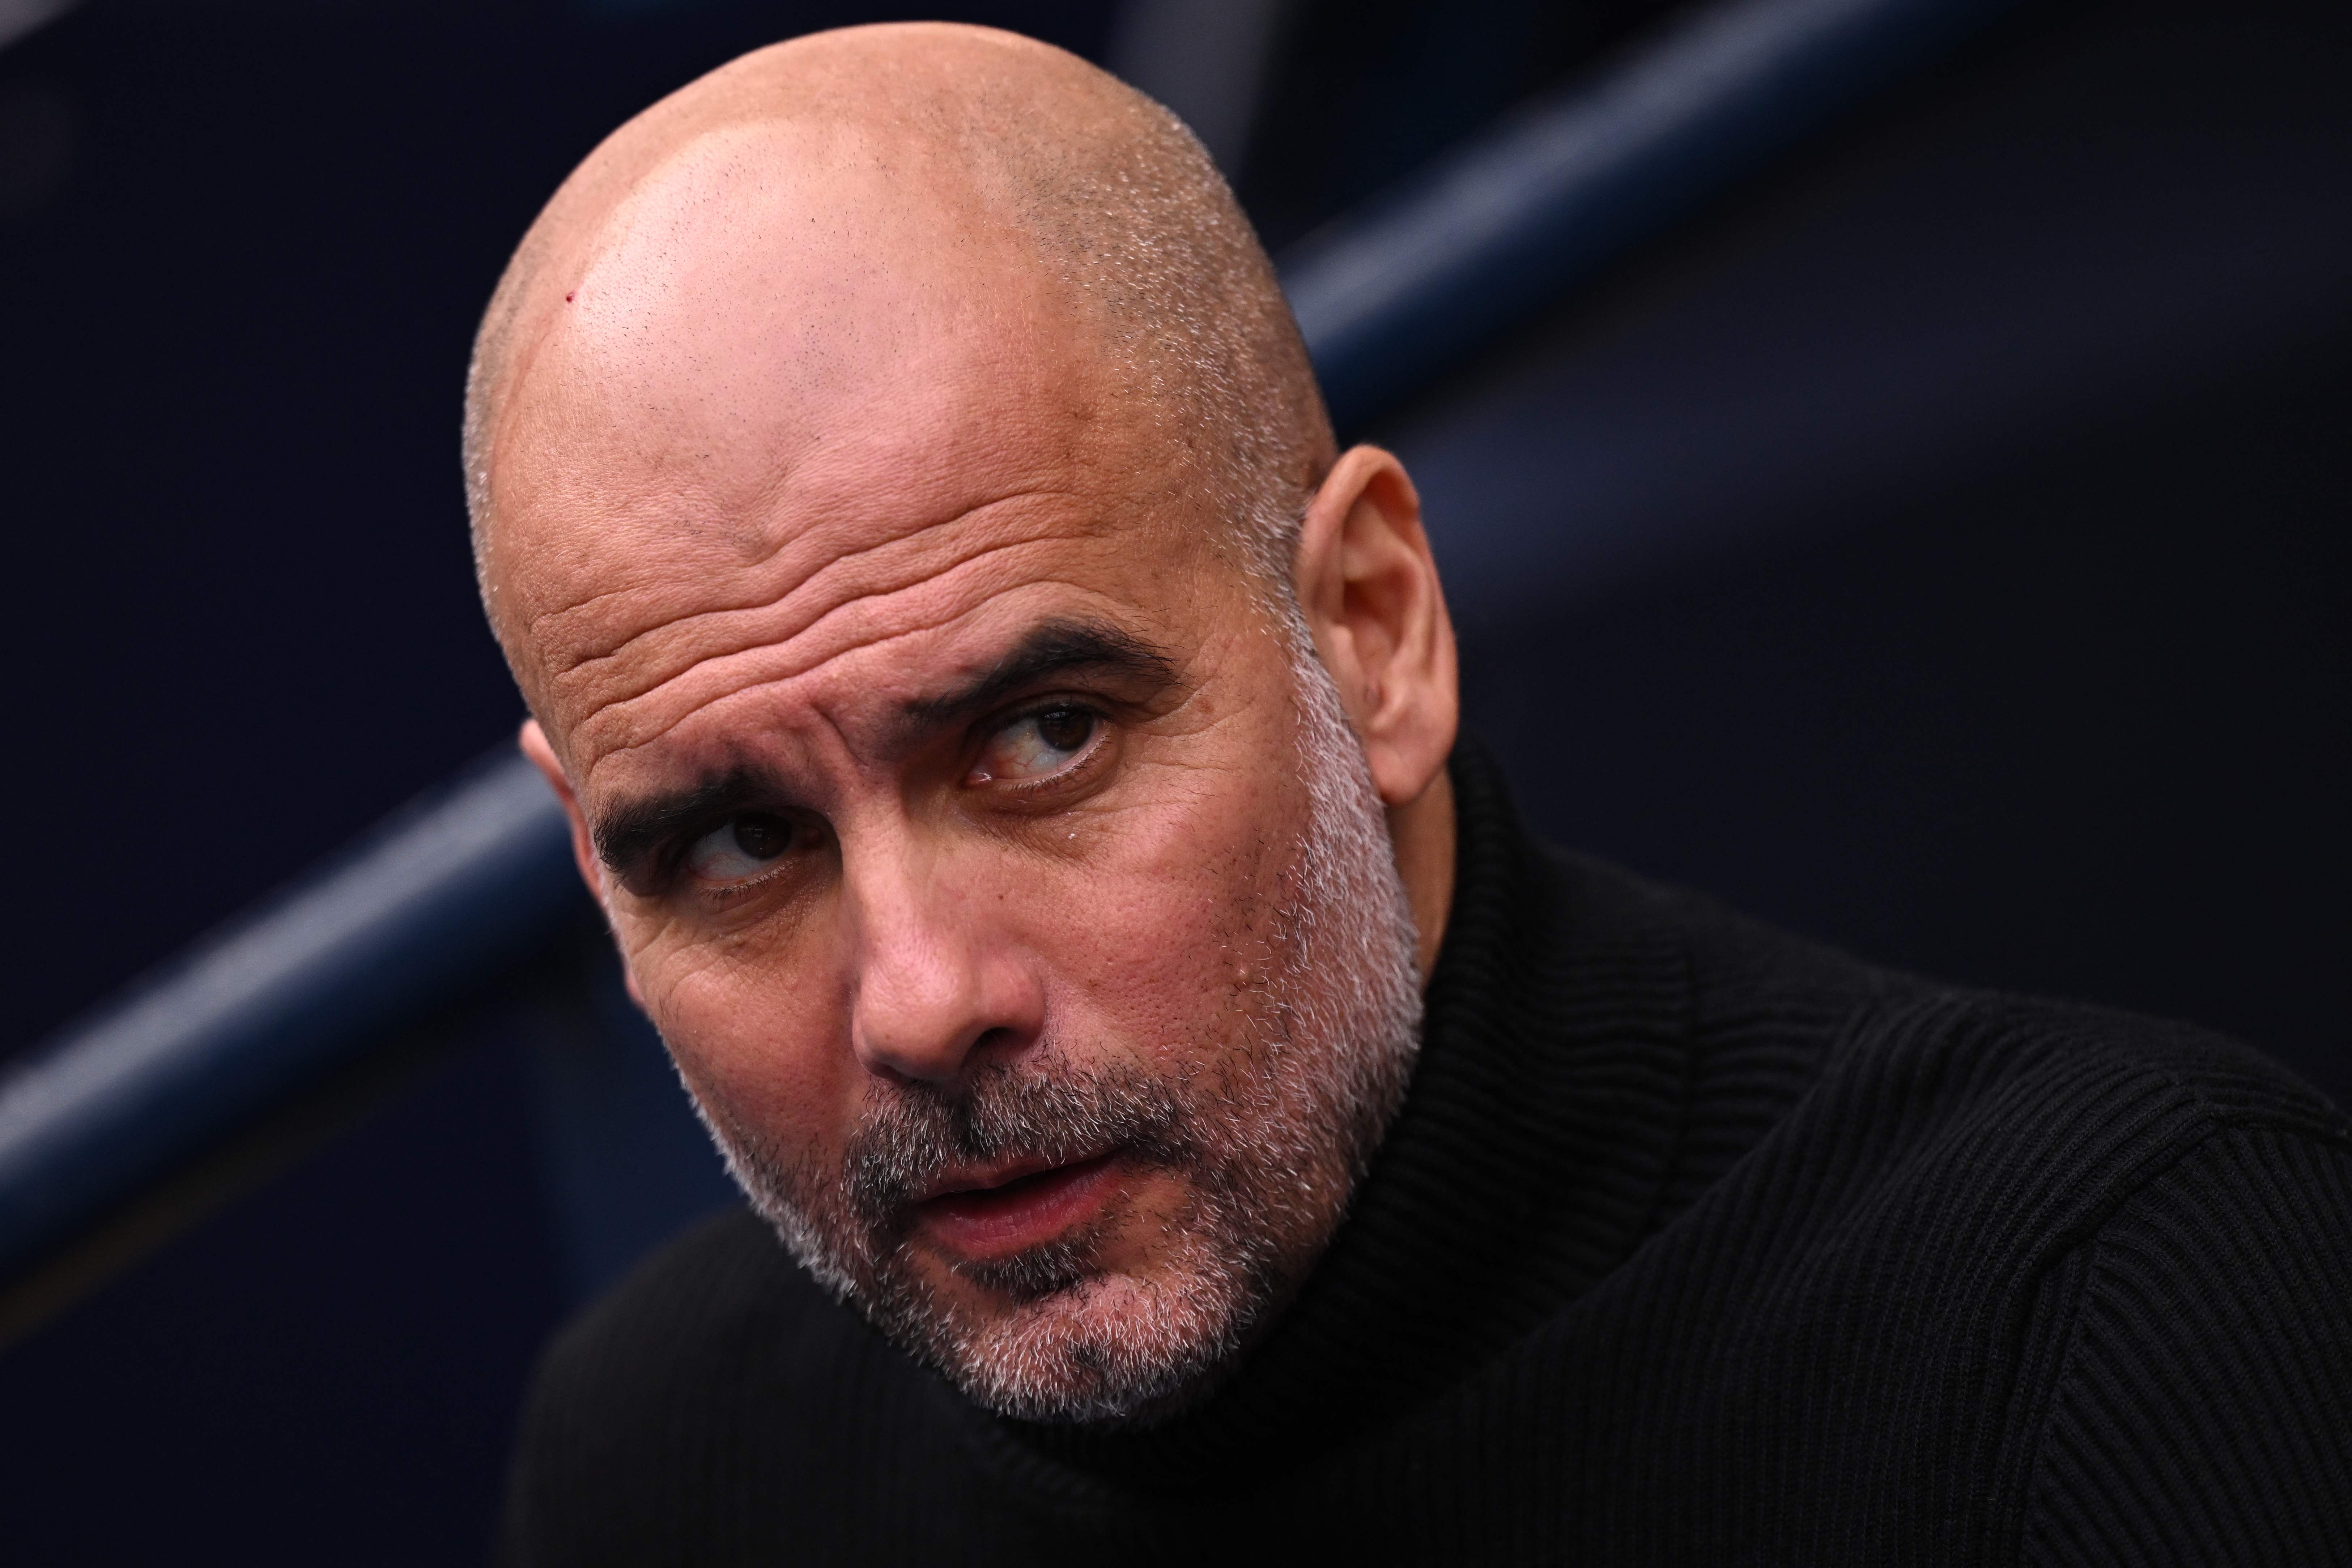
[[[696,712],[703,712],[713,703],[729,701],[734,696],[750,691],[764,691],[790,684],[847,654],[884,646],[889,642],[898,642],[903,637],[913,637],[920,632],[941,630],[981,611],[988,602],[993,602],[1007,590],[1058,585],[1094,599],[1108,599],[1108,595],[1103,595],[1096,588],[1087,588],[1084,583],[1054,574],[1018,576],[1016,581],[1007,581],[1007,576],[1018,571],[1018,562],[1004,562],[1002,557],[1014,555],[1018,550],[1049,548],[1056,543],[1058,541],[1054,538],[1033,538],[1033,541],[997,545],[993,550],[974,555],[971,559],[962,562],[948,574],[917,583],[915,588],[943,588],[955,592],[957,602],[946,614],[924,614],[920,609],[910,609],[908,614],[917,616],[913,621],[896,621],[891,616],[875,614],[873,618],[854,621],[851,625],[840,628],[842,639],[821,642],[816,649],[811,649],[809,639],[823,635],[828,623],[854,616],[858,607],[873,607],[884,599],[898,597],[896,592],[863,595],[828,609],[818,621],[814,621],[807,630],[802,630],[793,639],[797,646],[757,644],[720,658],[699,661],[684,672],[670,677],[668,682],[661,682],[659,686],[644,693],[637,693],[633,698],[621,698],[583,717],[581,724],[574,729],[574,752],[579,752],[583,745],[597,748],[600,757],[614,757],[621,752],[642,750],[644,745],[661,741],[673,729],[689,722]],[[978,583],[955,581],[971,576],[981,576],[983,581]],[[934,599],[936,595],[924,595],[924,597]],[[748,677],[743,675],[746,670],[750,672]],[[696,693],[703,689],[708,689],[710,696],[696,698]],[[635,719],[649,703],[659,703],[666,696],[673,696],[682,703],[675,717],[654,719],[652,729],[637,729],[630,724],[630,719]],[[614,729],[619,729],[621,736],[609,745],[600,745],[600,736]]]

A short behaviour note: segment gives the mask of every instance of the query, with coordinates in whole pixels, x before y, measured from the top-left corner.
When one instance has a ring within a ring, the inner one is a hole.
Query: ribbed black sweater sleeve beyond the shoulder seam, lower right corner
[[[2345,1140],[2223,1126],[2140,1185],[2053,1286],[2063,1359],[2032,1443],[2023,1561],[2352,1561]]]

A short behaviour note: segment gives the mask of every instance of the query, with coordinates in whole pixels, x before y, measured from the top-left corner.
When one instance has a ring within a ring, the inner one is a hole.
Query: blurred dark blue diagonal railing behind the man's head
[[[1284,287],[1343,433],[2009,2],[1698,12],[1310,237]],[[0,1084],[0,1291],[583,914],[564,818],[520,757],[397,813]]]

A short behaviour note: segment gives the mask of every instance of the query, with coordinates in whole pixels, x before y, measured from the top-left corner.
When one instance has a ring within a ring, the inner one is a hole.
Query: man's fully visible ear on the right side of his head
[[[1421,799],[1454,750],[1461,691],[1421,496],[1395,454],[1352,447],[1331,468],[1298,531],[1296,588],[1381,799]]]

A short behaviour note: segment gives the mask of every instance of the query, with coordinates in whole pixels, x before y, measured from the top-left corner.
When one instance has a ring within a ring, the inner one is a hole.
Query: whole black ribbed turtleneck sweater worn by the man
[[[748,1213],[548,1352],[572,1563],[2352,1563],[2352,1128],[2187,1027],[1867,969],[1454,764],[1406,1105],[1148,1432],[962,1401]]]

